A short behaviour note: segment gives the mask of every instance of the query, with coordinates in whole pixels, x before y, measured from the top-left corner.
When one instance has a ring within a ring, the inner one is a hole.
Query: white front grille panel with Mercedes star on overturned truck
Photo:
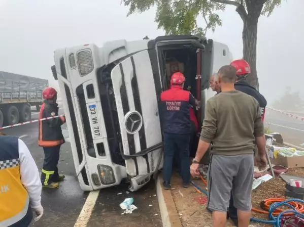
[[[161,129],[148,51],[120,62],[111,72],[127,174],[152,174],[161,154]],[[162,167],[162,164],[159,168]]]

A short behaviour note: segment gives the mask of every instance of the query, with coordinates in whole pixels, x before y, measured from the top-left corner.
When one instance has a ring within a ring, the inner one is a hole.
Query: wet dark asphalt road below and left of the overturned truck
[[[63,114],[62,109],[59,110],[59,114]],[[33,112],[32,119],[37,118],[38,113]],[[67,133],[64,128],[63,126],[63,132]],[[18,136],[25,142],[41,171],[44,154],[43,149],[37,145],[38,123],[8,128],[3,131],[8,135]],[[58,168],[66,178],[60,184],[59,189],[42,190],[44,215],[41,220],[31,226],[73,227],[85,204],[89,192],[83,192],[79,187],[70,143],[65,143],[61,147]],[[139,192],[127,194],[127,191],[126,184],[101,190],[87,226],[162,226],[154,182],[152,181]],[[128,197],[133,197],[134,205],[138,209],[134,210],[132,214],[122,215],[119,204]]]

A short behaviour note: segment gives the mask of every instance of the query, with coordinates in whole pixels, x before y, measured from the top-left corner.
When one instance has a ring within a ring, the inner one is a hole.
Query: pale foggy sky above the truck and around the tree
[[[301,90],[304,83],[304,1],[282,2],[258,25],[257,71],[268,103],[287,85]],[[57,48],[164,34],[154,22],[155,9],[128,18],[127,12],[120,0],[0,0],[0,71],[49,79],[57,87],[50,68]],[[232,6],[220,16],[223,25],[207,37],[226,43],[234,59],[242,58],[241,18]]]

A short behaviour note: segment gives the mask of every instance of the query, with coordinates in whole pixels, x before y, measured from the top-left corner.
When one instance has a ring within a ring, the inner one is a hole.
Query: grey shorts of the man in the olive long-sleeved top
[[[242,211],[251,210],[253,160],[253,154],[211,156],[208,169],[209,210],[226,212],[231,190],[234,207]]]

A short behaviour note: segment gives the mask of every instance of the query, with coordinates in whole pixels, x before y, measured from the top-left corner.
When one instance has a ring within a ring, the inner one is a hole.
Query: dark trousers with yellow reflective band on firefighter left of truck
[[[56,147],[43,148],[44,151],[44,163],[41,173],[42,185],[49,185],[53,182],[59,181],[58,174],[58,161],[60,145]]]

